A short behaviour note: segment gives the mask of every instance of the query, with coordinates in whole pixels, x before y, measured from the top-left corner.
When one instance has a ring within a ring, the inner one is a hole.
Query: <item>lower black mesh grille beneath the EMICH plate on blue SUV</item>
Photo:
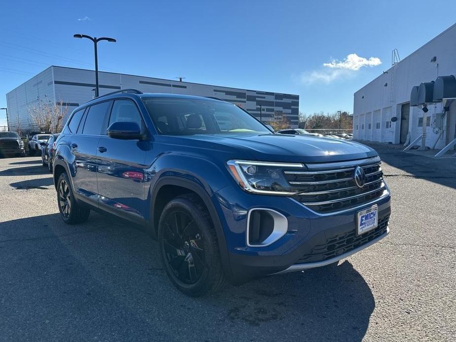
[[[382,217],[379,219],[377,228],[359,236],[356,235],[356,230],[353,229],[352,231],[326,238],[325,243],[314,246],[296,261],[296,264],[324,261],[350,252],[385,234],[388,227],[388,219],[389,215]]]

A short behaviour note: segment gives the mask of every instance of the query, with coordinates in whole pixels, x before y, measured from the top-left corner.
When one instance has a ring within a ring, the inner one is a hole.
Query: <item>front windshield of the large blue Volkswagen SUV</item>
[[[159,134],[271,133],[238,106],[212,100],[145,98]]]

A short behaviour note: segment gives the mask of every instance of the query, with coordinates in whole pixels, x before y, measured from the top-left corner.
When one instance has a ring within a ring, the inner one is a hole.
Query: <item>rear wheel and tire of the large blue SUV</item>
[[[90,209],[78,205],[73,196],[70,181],[64,172],[57,182],[57,205],[60,217],[67,224],[77,224],[87,221]]]

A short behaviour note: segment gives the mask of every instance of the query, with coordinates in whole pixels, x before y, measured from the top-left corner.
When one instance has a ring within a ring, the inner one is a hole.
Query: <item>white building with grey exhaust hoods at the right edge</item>
[[[405,144],[420,137],[424,124],[426,147],[442,149],[452,142],[456,133],[456,103],[442,102],[441,98],[432,101],[432,89],[435,97],[442,91],[439,76],[448,76],[443,77],[445,82],[451,81],[446,92],[456,91],[453,89],[456,87],[455,42],[456,24],[400,61],[397,50],[393,51],[391,67],[354,93],[353,137]],[[435,89],[434,81],[440,90]],[[426,100],[417,103],[417,99],[412,99],[411,103],[412,90],[418,96],[418,88],[414,87],[423,82],[431,82],[420,88],[420,96]],[[424,123],[423,105],[424,110],[426,105],[428,109]],[[416,145],[421,145],[420,139]]]

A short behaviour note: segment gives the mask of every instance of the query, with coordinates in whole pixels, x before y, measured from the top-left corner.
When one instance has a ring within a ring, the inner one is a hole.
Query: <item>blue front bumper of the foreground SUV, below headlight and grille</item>
[[[279,196],[245,194],[225,188],[217,193],[223,215],[233,283],[269,274],[325,266],[344,259],[383,239],[389,233],[390,196],[376,201],[379,228],[357,237],[356,214],[372,203],[334,215],[319,215],[299,202]],[[242,190],[241,190],[242,191]],[[237,197],[237,198],[236,198]],[[236,198],[236,201],[230,200]],[[288,220],[287,233],[265,247],[246,245],[246,213],[271,208]]]

